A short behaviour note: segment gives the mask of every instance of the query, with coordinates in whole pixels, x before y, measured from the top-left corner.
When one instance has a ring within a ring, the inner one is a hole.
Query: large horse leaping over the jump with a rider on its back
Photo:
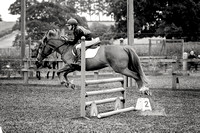
[[[135,79],[139,91],[143,94],[150,95],[150,90],[146,85],[148,79],[143,72],[140,59],[132,46],[116,46],[116,45],[99,45],[98,52],[93,58],[86,58],[86,71],[99,70],[105,67],[111,67],[116,73]],[[70,83],[67,75],[74,71],[80,71],[80,66],[74,65],[76,55],[73,53],[74,45],[68,40],[60,38],[58,31],[49,30],[43,37],[42,48],[37,56],[36,65],[40,65],[52,52],[56,51],[61,55],[65,65],[57,71],[61,84],[66,87],[75,85]]]

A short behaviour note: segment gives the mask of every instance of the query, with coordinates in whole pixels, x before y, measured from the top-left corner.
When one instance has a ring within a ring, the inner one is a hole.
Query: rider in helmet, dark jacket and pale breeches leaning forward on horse
[[[78,61],[76,62],[77,65],[80,65],[80,55],[81,55],[81,37],[85,36],[85,46],[86,48],[93,45],[91,31],[84,28],[83,26],[79,26],[76,19],[71,18],[67,21],[68,29],[73,31],[74,40],[70,41],[72,45],[75,45],[76,55]]]

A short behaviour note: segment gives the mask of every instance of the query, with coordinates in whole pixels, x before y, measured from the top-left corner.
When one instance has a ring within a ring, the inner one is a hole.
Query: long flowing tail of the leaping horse
[[[142,69],[142,65],[140,63],[140,59],[138,55],[136,54],[135,50],[131,47],[125,47],[125,51],[127,51],[128,56],[129,56],[129,64],[128,68],[131,71],[134,71],[138,74],[138,76],[141,78],[143,83],[148,84],[148,79],[146,78],[146,75]]]

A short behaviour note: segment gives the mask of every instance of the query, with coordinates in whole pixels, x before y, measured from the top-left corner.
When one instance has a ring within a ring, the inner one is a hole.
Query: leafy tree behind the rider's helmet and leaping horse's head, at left
[[[87,26],[86,19],[78,16],[76,9],[60,3],[26,1],[26,29],[29,37],[39,40],[49,29],[62,29],[71,17],[76,18],[81,25]],[[20,4],[21,0],[16,0],[9,8],[10,13],[20,14]]]

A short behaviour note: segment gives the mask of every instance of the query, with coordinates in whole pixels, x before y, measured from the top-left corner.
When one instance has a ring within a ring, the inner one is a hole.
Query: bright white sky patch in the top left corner
[[[0,3],[0,15],[3,21],[16,21],[19,15],[11,15],[9,14],[9,7],[15,0],[1,0]]]

